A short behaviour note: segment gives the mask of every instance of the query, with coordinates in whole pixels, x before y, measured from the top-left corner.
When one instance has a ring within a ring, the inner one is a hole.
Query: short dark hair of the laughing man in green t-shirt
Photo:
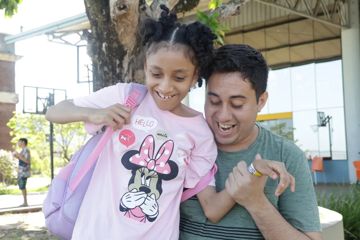
[[[246,44],[228,44],[215,50],[208,77],[214,72],[239,72],[255,90],[256,101],[266,91],[269,69],[262,54]]]

